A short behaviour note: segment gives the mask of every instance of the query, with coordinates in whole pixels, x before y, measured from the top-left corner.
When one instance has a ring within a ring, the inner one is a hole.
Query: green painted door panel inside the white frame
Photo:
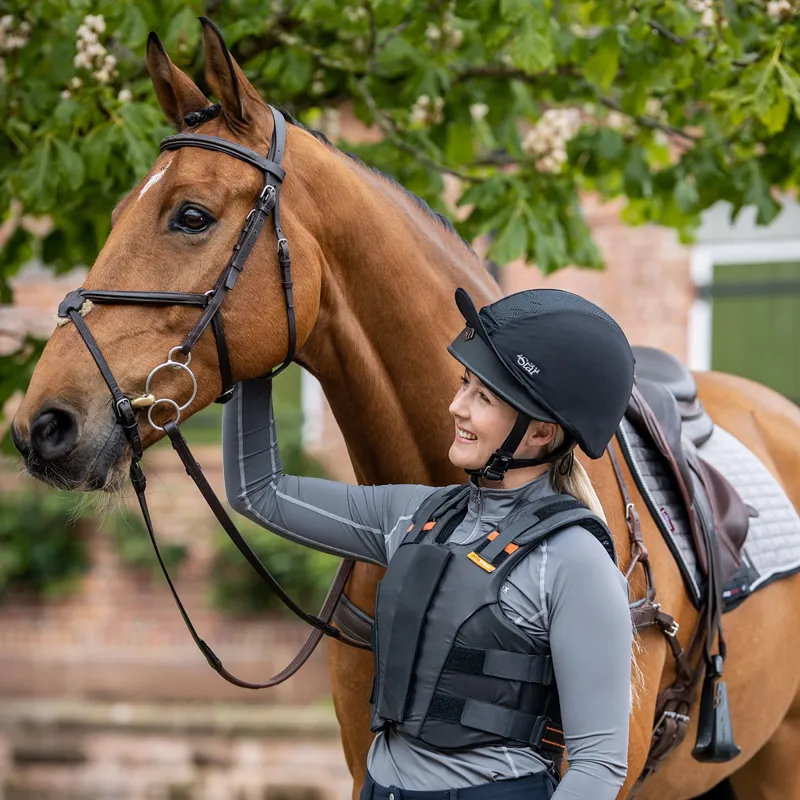
[[[711,368],[800,404],[800,262],[717,264],[708,295]]]

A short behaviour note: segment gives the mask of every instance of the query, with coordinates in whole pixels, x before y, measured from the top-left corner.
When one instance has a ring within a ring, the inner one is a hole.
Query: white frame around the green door
[[[711,369],[713,308],[707,290],[714,282],[714,267],[726,264],[768,264],[785,261],[800,262],[800,239],[698,244],[692,248],[690,272],[695,291],[689,309],[687,353],[689,369],[698,371]]]

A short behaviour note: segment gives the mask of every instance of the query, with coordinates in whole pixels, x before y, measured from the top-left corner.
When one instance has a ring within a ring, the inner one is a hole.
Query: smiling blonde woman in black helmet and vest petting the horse
[[[362,800],[611,800],[627,769],[627,583],[573,448],[603,454],[633,355],[611,317],[569,292],[480,313],[463,289],[456,302],[467,324],[449,351],[465,373],[449,456],[466,486],[283,475],[261,379],[225,407],[228,499],[295,542],[388,565]]]

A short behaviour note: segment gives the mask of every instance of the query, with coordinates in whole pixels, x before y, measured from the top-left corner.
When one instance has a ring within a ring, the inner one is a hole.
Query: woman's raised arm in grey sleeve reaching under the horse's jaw
[[[228,502],[240,514],[299,544],[382,566],[387,540],[433,491],[284,475],[268,378],[236,386],[222,415],[222,454]]]

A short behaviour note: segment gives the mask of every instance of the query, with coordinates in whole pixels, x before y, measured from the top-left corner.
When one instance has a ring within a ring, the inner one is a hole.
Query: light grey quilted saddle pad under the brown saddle
[[[637,484],[683,574],[695,604],[703,579],[697,567],[686,510],[662,455],[627,419],[619,429],[620,443]],[[756,589],[800,571],[800,516],[778,481],[735,436],[718,425],[700,448],[742,500],[758,513],[750,518],[741,569],[725,587],[725,610],[735,608]]]

